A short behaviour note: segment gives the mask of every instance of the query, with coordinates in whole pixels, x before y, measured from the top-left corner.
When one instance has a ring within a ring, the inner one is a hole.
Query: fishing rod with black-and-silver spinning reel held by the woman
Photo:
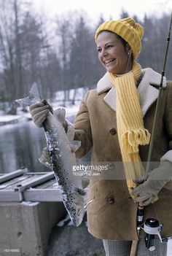
[[[171,12],[171,21],[170,21],[170,26],[169,26],[169,30],[168,30],[168,36],[166,39],[166,47],[165,47],[165,55],[164,55],[164,60],[163,60],[163,71],[161,74],[161,79],[160,79],[160,85],[155,85],[157,86],[157,88],[159,89],[159,93],[157,96],[157,104],[156,104],[156,109],[155,109],[155,117],[154,117],[154,122],[152,125],[152,136],[151,136],[151,141],[149,144],[149,152],[148,152],[148,157],[147,157],[147,162],[146,162],[146,170],[145,170],[145,174],[144,174],[144,181],[147,179],[148,173],[149,173],[149,167],[150,167],[150,160],[152,157],[152,149],[153,149],[153,144],[154,144],[154,139],[155,139],[155,131],[156,131],[156,127],[157,127],[157,118],[160,112],[160,99],[163,93],[163,79],[164,79],[164,75],[165,75],[165,67],[166,67],[166,61],[167,61],[167,57],[168,57],[168,49],[169,49],[169,44],[170,44],[170,40],[171,40],[171,26],[172,26],[172,12]],[[152,84],[153,85],[153,84]],[[155,228],[149,227],[151,226],[151,221],[154,222]],[[144,230],[147,233],[147,237],[146,237],[146,247],[149,248],[150,250],[155,249],[154,244],[152,244],[151,238],[155,236],[155,234],[157,234],[160,238],[160,241],[162,241],[162,238],[160,237],[160,230],[162,230],[163,225],[159,224],[159,222],[155,220],[155,219],[149,219],[146,220],[145,225],[144,224]],[[138,237],[139,237],[139,233],[141,230],[141,225],[143,225],[144,222],[144,206],[143,206],[143,202],[138,203],[138,210],[137,210],[137,230],[138,230]],[[149,223],[148,223],[149,222]],[[130,249],[130,256],[136,256],[136,250],[137,250],[137,246],[138,246],[138,240],[133,240],[132,242],[132,246]]]

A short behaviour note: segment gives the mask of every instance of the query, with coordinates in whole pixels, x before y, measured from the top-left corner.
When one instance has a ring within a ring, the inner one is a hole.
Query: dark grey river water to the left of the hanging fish
[[[19,168],[28,168],[28,171],[50,171],[38,160],[45,146],[43,129],[36,128],[31,121],[1,125],[0,173]]]

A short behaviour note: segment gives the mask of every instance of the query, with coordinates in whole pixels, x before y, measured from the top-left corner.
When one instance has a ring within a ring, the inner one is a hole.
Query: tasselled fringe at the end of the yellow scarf
[[[149,144],[149,140],[150,133],[147,129],[130,129],[122,135],[122,147],[129,153],[138,152],[138,146]]]

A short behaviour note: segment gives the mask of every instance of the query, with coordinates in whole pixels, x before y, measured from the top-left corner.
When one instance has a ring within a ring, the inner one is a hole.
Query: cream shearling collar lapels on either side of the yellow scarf
[[[149,109],[149,106],[154,103],[158,96],[158,90],[150,85],[150,83],[160,85],[161,75],[150,68],[142,69],[142,72],[144,73],[144,76],[141,79],[140,84],[138,85],[138,93],[140,96],[141,112],[144,116],[146,114],[146,111]],[[165,87],[165,85],[166,79],[164,78],[163,87]],[[109,92],[106,94],[103,100],[106,102],[107,105],[109,105],[111,109],[116,111],[116,88],[109,81],[107,73],[98,81],[98,95],[100,95],[101,93],[105,93],[106,90],[109,90]]]

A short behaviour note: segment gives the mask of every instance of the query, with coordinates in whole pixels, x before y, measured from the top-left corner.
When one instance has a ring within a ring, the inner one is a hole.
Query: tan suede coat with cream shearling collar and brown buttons
[[[160,83],[160,74],[144,69],[138,85],[144,127],[152,131],[158,90],[149,82]],[[155,134],[152,161],[160,158],[172,162],[172,83],[163,89],[159,122]],[[82,158],[93,147],[92,161],[111,163],[122,161],[117,136],[116,92],[106,75],[90,90],[80,104],[74,128],[76,138],[82,141],[77,158]],[[148,146],[140,147],[140,157],[146,161]],[[172,171],[172,170],[171,170]],[[115,172],[115,165],[114,165]],[[158,201],[144,209],[144,217],[154,217],[163,222],[162,236],[172,236],[172,185],[168,182],[158,194]],[[130,198],[125,179],[90,179],[87,206],[89,232],[101,239],[134,240],[136,233],[136,203]]]

